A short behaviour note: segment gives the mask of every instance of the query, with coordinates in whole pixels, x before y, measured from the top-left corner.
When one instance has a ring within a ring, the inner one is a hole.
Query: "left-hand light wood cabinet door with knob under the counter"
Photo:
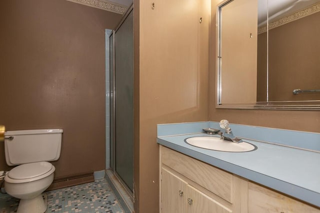
[[[161,169],[161,212],[185,213],[186,183],[167,171]]]

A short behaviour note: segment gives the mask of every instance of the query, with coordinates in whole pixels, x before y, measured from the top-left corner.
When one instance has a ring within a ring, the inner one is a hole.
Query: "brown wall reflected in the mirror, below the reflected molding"
[[[320,100],[320,93],[292,94],[293,89],[320,88],[319,19],[316,12],[269,30],[269,101]],[[266,101],[265,40],[266,32],[258,35],[257,101]]]

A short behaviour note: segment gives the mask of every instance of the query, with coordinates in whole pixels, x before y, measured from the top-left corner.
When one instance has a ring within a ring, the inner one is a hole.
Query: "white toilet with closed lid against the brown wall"
[[[44,213],[44,192],[53,181],[54,166],[48,161],[60,157],[62,129],[7,131],[4,152],[7,165],[14,166],[4,177],[7,194],[20,199],[17,213]]]

